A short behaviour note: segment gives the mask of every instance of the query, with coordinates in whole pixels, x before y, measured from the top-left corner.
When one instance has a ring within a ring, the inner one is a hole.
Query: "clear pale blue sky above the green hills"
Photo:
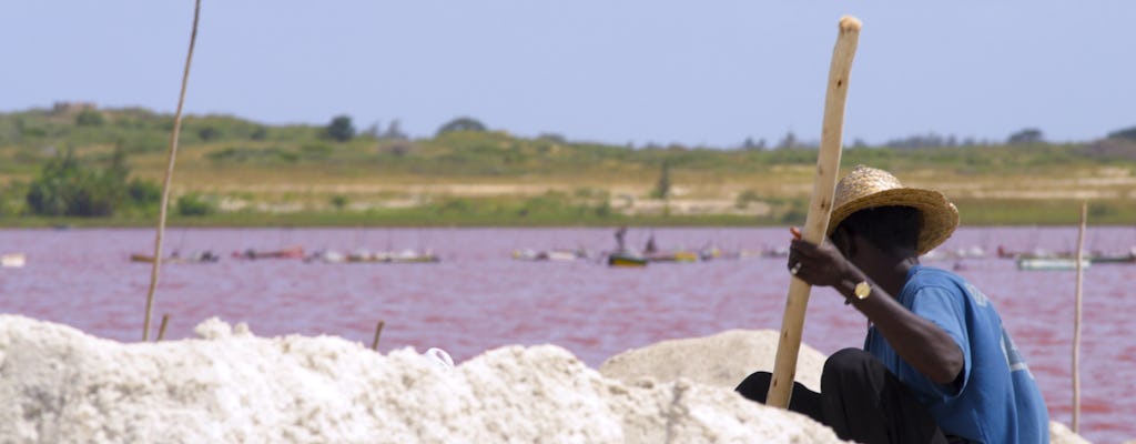
[[[845,14],[864,24],[846,141],[1136,125],[1130,0],[204,0],[186,111],[399,119],[412,136],[471,116],[618,144],[816,141]],[[191,0],[6,2],[0,111],[172,112],[192,16]]]

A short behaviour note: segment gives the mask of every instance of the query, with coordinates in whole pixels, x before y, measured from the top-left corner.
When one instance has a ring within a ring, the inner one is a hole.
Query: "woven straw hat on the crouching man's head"
[[[858,165],[836,184],[828,235],[853,212],[876,207],[913,207],[922,212],[919,228],[919,254],[927,253],[951,237],[959,226],[959,209],[943,193],[909,189],[883,169]]]

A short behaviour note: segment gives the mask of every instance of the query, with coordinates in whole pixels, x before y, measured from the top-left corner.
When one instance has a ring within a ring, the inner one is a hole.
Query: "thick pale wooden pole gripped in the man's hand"
[[[813,183],[809,216],[804,219],[802,238],[815,244],[825,240],[828,216],[833,210],[833,193],[836,190],[836,173],[841,168],[841,144],[844,132],[844,102],[847,99],[849,75],[852,59],[860,39],[860,20],[855,17],[841,18],[833,61],[828,68],[828,91],[825,94],[825,119],[820,129],[820,153],[817,157],[817,178]],[[809,304],[812,286],[795,276],[791,278],[785,315],[782,318],[782,334],[774,360],[774,377],[769,383],[766,404],[788,408],[793,379],[796,377],[796,358],[801,350],[801,332],[804,329],[804,312]]]

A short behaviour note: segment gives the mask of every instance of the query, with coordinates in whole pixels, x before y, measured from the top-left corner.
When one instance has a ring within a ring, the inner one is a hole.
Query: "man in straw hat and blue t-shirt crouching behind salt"
[[[959,223],[942,193],[857,167],[836,186],[821,245],[793,240],[788,269],[832,286],[868,318],[863,350],[825,362],[820,393],[794,384],[790,410],[862,443],[1047,443],[1049,413],[989,299],[919,265]],[[765,402],[770,375],[737,391]]]

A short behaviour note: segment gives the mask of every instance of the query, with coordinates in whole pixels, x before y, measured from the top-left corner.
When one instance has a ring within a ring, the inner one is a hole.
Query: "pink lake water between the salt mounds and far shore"
[[[153,325],[170,315],[168,338],[192,336],[201,320],[245,321],[261,336],[328,334],[379,349],[438,346],[465,360],[506,344],[553,343],[588,365],[662,340],[730,328],[779,329],[788,275],[783,259],[652,263],[612,269],[594,262],[523,262],[520,248],[612,246],[610,229],[184,229],[166,234],[166,251],[210,249],[210,265],[162,267]],[[783,246],[785,228],[655,229],[661,248],[712,242],[727,251]],[[1001,244],[1011,250],[1069,251],[1076,228],[961,229],[943,248]],[[642,245],[646,232],[633,229]],[[150,229],[0,229],[0,253],[25,252],[27,266],[0,268],[0,312],[67,324],[118,341],[142,337],[150,266],[128,261],[152,251]],[[441,263],[304,263],[241,261],[233,250],[371,251],[429,248]],[[1131,228],[1093,228],[1086,249],[1127,251]],[[954,261],[925,260],[952,267]],[[1010,260],[967,259],[960,271],[1002,312],[1042,386],[1050,414],[1071,422],[1075,274],[1019,271]],[[1097,443],[1136,438],[1136,266],[1085,271],[1080,349],[1081,435]],[[825,353],[860,346],[864,320],[828,288],[810,301],[804,342]]]

